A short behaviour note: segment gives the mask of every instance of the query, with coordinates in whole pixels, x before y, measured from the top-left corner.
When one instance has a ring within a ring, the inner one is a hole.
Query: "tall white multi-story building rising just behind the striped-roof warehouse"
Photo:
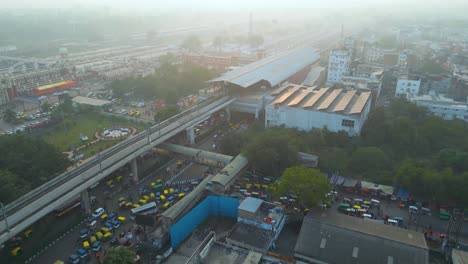
[[[328,59],[327,85],[342,81],[344,74],[348,72],[351,54],[347,50],[332,50]]]

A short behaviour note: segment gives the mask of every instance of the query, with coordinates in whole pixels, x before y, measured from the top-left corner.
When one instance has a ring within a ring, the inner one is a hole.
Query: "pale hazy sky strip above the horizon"
[[[466,0],[0,0],[0,8],[67,8],[109,6],[116,9],[268,10],[358,7],[468,7]],[[418,9],[415,9],[417,11]]]

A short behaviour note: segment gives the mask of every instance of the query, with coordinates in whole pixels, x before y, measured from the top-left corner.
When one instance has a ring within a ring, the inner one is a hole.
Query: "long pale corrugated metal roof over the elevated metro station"
[[[313,48],[289,50],[224,73],[209,82],[230,82],[247,88],[261,80],[276,86],[298,71],[315,63],[320,55]]]

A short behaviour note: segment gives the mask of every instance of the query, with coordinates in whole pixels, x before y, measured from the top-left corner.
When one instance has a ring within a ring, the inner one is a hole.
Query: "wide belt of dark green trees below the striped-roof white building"
[[[319,156],[319,169],[407,187],[428,200],[465,205],[468,195],[468,123],[445,121],[403,99],[371,112],[361,136],[326,128],[310,132],[264,129],[227,134],[223,153],[242,152],[258,170],[279,176],[298,164],[297,151]],[[468,206],[468,204],[467,204]]]

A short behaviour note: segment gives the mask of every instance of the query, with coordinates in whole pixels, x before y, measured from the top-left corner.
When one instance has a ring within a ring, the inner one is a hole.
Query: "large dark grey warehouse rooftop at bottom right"
[[[340,214],[311,211],[301,227],[295,257],[327,263],[428,263],[422,233]],[[340,254],[336,254],[340,252]]]

